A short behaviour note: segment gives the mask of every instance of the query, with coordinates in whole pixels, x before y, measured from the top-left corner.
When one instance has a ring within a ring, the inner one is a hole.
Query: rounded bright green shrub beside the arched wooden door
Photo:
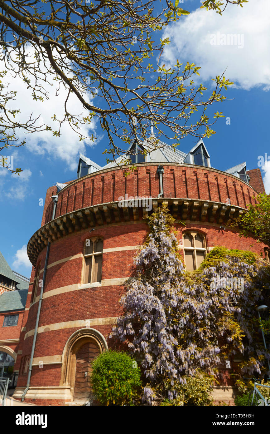
[[[94,359],[91,382],[102,405],[134,405],[140,391],[140,368],[124,352],[107,351]]]

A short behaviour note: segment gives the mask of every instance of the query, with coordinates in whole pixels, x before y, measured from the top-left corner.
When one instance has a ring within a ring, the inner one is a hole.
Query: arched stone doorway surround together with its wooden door
[[[60,386],[70,387],[71,401],[91,398],[91,361],[108,349],[104,336],[95,329],[80,329],[70,336],[62,354]]]

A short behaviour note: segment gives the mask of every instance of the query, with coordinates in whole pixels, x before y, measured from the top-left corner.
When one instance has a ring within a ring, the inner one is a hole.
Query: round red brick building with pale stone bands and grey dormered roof
[[[185,220],[176,230],[189,270],[217,245],[258,254],[268,248],[226,227],[256,203],[245,163],[223,172],[211,168],[202,141],[187,155],[163,145],[145,160],[136,151],[146,145],[133,144],[126,156],[137,169],[127,177],[127,166],[101,168],[80,155],[78,179],[49,187],[42,225],[27,247],[33,270],[15,398],[41,405],[88,399],[91,360],[107,349],[123,283],[148,232],[143,217],[162,202]]]

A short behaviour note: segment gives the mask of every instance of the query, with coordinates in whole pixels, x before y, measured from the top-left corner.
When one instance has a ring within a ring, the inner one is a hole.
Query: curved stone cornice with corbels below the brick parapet
[[[27,245],[27,254],[36,266],[39,253],[47,246],[71,233],[93,227],[106,227],[127,221],[143,221],[158,204],[165,202],[175,219],[224,224],[229,218],[243,214],[244,209],[213,201],[187,198],[152,198],[152,210],[145,207],[119,207],[119,202],[93,205],[63,214],[39,228]]]

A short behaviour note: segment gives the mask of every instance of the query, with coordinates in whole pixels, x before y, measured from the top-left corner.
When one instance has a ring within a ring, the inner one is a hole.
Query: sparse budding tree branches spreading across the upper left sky
[[[221,13],[228,3],[242,6],[246,0],[206,1],[202,7]],[[108,161],[124,151],[115,138],[130,144],[134,139],[149,137],[151,122],[156,127],[156,140],[149,142],[149,151],[158,146],[165,135],[172,146],[186,135],[205,137],[222,112],[209,121],[206,109],[212,102],[225,99],[223,90],[232,84],[217,76],[209,99],[202,84],[195,85],[199,67],[183,65],[177,60],[172,69],[159,64],[169,39],[160,39],[160,32],[170,21],[189,14],[179,0],[0,0],[0,59],[5,69],[0,72],[0,151],[16,145],[16,132],[52,131],[61,136],[63,122],[78,133],[80,140],[91,139],[80,132],[80,125],[89,125],[98,118],[107,132],[108,145],[104,153]],[[22,80],[33,99],[49,98],[45,82],[63,85],[66,101],[62,119],[52,112],[58,125],[40,125],[39,116],[21,122],[21,107],[9,109],[16,99],[16,89],[5,82],[7,71]],[[76,95],[88,115],[71,113],[67,109],[70,94]],[[198,112],[197,120],[192,115]],[[204,132],[200,134],[200,131]],[[3,163],[3,161],[2,161]],[[20,173],[21,169],[16,169]]]

